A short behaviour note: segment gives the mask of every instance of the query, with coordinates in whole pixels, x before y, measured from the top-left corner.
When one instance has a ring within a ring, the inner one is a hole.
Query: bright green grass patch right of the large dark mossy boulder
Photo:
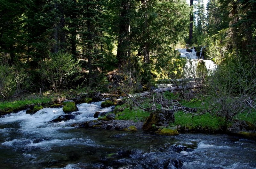
[[[218,131],[223,126],[226,126],[227,122],[225,117],[217,117],[209,113],[202,115],[185,114],[182,111],[174,114],[175,122],[171,125],[186,127],[189,129],[209,129],[211,131]]]

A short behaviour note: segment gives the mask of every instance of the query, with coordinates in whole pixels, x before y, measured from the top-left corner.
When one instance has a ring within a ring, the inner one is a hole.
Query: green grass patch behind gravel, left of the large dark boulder
[[[144,121],[148,116],[149,112],[143,111],[141,109],[132,109],[125,108],[124,111],[119,112],[116,114],[117,120],[133,120],[135,122],[137,121]]]

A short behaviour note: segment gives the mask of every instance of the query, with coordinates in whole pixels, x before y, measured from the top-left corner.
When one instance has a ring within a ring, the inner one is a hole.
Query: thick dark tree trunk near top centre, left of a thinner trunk
[[[121,0],[120,21],[119,21],[119,36],[116,58],[118,60],[118,68],[122,69],[131,56],[130,49],[130,0]]]

